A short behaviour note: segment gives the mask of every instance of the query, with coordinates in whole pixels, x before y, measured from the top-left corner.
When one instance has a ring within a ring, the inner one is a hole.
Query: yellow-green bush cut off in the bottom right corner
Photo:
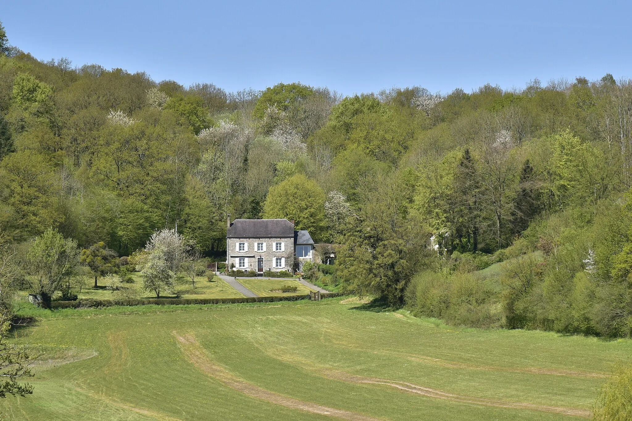
[[[601,389],[593,410],[595,421],[632,420],[632,365],[621,365]]]

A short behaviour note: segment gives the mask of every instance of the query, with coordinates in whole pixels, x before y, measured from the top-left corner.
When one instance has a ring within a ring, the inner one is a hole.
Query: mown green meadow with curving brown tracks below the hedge
[[[357,299],[36,316],[16,420],[585,419],[632,341],[465,329]]]

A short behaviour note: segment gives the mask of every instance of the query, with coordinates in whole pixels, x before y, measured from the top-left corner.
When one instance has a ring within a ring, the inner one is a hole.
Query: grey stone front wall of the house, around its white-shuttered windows
[[[248,251],[237,251],[236,244],[240,242],[245,242],[248,244]],[[257,243],[264,242],[265,243],[265,251],[257,251]],[[274,251],[274,243],[276,242],[284,242],[285,243],[285,251]],[[229,238],[228,239],[228,267],[232,268],[234,264],[234,268],[238,270],[253,270],[257,271],[257,259],[262,257],[264,258],[264,271],[272,270],[272,271],[292,271],[292,265],[294,262],[294,237],[290,238],[265,238],[265,239],[236,239]],[[238,259],[240,257],[246,258],[247,265],[246,268],[240,268],[238,264]],[[284,268],[275,268],[274,261],[275,258],[285,258],[285,267]]]

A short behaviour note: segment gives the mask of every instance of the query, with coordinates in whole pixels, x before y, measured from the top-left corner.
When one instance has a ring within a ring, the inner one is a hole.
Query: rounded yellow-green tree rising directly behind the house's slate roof
[[[325,227],[325,193],[303,174],[270,187],[264,203],[264,218],[295,220],[298,230],[320,238]]]

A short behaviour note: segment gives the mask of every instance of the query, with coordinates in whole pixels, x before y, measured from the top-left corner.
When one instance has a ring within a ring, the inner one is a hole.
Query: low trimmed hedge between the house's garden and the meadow
[[[322,294],[322,298],[339,297],[343,294],[332,292]],[[142,300],[76,300],[76,301],[53,301],[52,309],[78,309],[81,307],[112,307],[112,305],[183,305],[183,304],[240,304],[245,302],[275,302],[275,301],[298,301],[310,299],[309,294],[285,295],[283,297],[240,297],[240,298],[207,298],[207,299],[142,299]]]

